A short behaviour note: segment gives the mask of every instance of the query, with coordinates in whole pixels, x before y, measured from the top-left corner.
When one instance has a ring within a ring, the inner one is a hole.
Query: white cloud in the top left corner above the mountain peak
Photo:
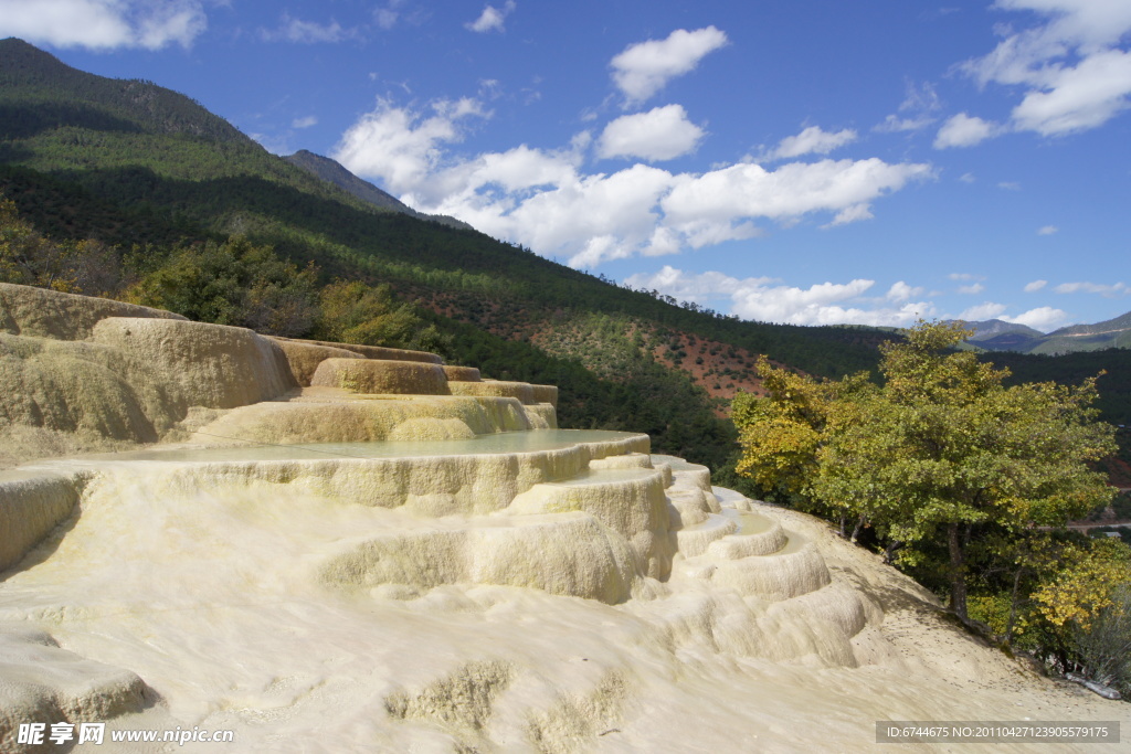
[[[57,47],[188,47],[207,26],[199,0],[0,0],[0,36]]]

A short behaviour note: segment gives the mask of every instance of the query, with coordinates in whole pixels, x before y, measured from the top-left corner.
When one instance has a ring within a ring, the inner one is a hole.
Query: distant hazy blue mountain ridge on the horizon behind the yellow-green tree
[[[1080,350],[1131,348],[1131,312],[1095,324],[1070,324],[1050,333],[1003,320],[966,322],[974,328],[968,344],[985,350],[1012,350],[1050,356]]]

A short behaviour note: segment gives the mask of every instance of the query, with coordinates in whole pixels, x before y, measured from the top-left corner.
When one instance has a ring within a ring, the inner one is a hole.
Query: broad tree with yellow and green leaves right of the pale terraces
[[[1008,370],[952,350],[959,324],[920,322],[882,347],[882,385],[817,381],[759,365],[769,395],[735,402],[740,473],[872,527],[889,557],[934,558],[967,617],[969,555],[1016,562],[1045,527],[1082,518],[1114,489],[1091,463],[1115,450],[1096,421],[1095,378],[1007,387]]]

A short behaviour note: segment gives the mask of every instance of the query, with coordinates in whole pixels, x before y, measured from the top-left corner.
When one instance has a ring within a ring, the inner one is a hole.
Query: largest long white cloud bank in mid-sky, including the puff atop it
[[[832,226],[865,219],[873,201],[933,176],[930,165],[878,158],[788,163],[774,171],[741,163],[706,173],[646,164],[582,172],[590,148],[658,159],[690,147],[698,131],[676,138],[685,121],[677,106],[618,119],[593,144],[582,131],[563,149],[524,145],[449,155],[473,118],[487,115],[475,99],[423,112],[379,102],[343,135],[333,156],[416,209],[459,217],[575,267],[751,239],[765,232],[759,220],[788,226],[828,214]]]

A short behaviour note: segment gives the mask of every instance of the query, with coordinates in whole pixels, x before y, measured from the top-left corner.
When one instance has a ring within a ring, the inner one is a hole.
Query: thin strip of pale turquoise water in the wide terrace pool
[[[558,450],[579,443],[615,442],[645,436],[634,432],[604,430],[534,430],[530,432],[483,434],[470,440],[318,442],[293,445],[248,442],[235,448],[144,450],[107,454],[104,458],[121,461],[270,461],[323,458],[481,456]]]

